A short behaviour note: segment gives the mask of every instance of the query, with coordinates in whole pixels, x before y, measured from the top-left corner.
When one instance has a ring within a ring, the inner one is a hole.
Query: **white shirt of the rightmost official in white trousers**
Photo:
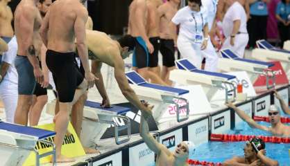
[[[223,17],[223,33],[225,37],[229,37],[232,33],[235,20],[240,20],[241,25],[239,26],[239,33],[248,33],[247,31],[247,16],[246,11],[239,2],[234,2]]]

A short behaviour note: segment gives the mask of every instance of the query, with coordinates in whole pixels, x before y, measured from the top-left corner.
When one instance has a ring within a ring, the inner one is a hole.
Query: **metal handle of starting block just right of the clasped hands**
[[[182,106],[182,107],[179,107],[179,104],[174,102],[173,99],[182,100],[186,104],[184,106]],[[171,104],[175,104],[176,105],[176,120],[178,122],[182,122],[182,121],[188,120],[188,118],[189,118],[189,102],[188,102],[187,99],[178,98],[178,97],[174,97],[174,96],[171,96],[171,95],[162,95],[162,100],[164,100],[167,103],[171,103]],[[180,116],[180,109],[187,109],[187,114],[186,114],[186,116],[184,116],[184,118],[180,118],[181,117]]]

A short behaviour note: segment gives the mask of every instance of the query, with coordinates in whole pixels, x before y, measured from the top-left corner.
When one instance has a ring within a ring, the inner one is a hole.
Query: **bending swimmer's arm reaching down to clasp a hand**
[[[145,113],[144,116],[147,118],[149,115],[152,114],[151,109],[145,107],[137,97],[135,91],[131,89],[128,80],[125,75],[125,67],[123,63],[123,59],[121,59],[121,55],[114,56],[114,77],[119,85],[119,89],[121,90],[122,94],[125,98],[133,104],[137,109]]]

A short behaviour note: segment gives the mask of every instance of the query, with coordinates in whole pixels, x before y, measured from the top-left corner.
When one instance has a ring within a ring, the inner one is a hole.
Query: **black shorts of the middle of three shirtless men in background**
[[[153,53],[149,55],[149,67],[157,67],[158,66],[158,52],[160,49],[160,37],[151,37],[149,41],[154,47]]]

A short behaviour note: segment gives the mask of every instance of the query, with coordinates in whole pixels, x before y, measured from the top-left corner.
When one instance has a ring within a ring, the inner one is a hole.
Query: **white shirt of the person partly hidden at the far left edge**
[[[2,62],[10,64],[6,75],[3,78],[3,81],[11,82],[12,84],[18,84],[18,74],[14,66],[15,57],[17,55],[17,40],[16,37],[12,37],[8,43],[8,51],[3,53]]]

